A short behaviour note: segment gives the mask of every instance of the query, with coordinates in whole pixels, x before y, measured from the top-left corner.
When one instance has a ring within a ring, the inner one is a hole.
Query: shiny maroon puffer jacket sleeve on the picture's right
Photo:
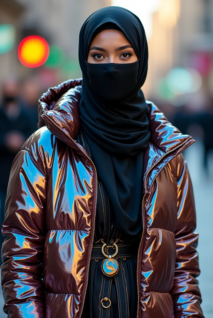
[[[177,162],[178,218],[175,232],[176,265],[174,284],[171,291],[175,318],[203,318],[201,295],[198,288],[198,255],[196,252],[198,234],[191,179],[183,155]]]

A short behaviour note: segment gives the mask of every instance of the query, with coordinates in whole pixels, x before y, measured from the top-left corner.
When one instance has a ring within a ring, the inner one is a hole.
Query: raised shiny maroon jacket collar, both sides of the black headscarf
[[[46,124],[50,132],[61,141],[78,149],[74,139],[79,130],[79,101],[81,80],[68,80],[59,86],[50,88],[39,100],[39,124]],[[150,145],[145,151],[145,173],[166,153],[177,155],[194,142],[189,135],[181,132],[167,120],[156,105],[147,101],[148,118],[151,131]],[[183,145],[183,146],[182,146]],[[178,148],[180,147],[180,148]],[[174,149],[177,148],[177,151]],[[85,151],[85,149],[83,149]],[[173,153],[174,150],[174,153]],[[86,151],[85,151],[86,152]]]

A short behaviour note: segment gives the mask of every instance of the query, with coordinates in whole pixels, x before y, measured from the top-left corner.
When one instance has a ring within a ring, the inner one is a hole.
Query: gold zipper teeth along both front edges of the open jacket
[[[87,156],[87,154],[81,149],[81,147],[79,147],[79,145],[77,144],[77,142],[74,141],[74,139],[72,137],[70,137],[70,135],[64,131],[59,125],[57,125],[55,123],[55,121],[53,121],[48,115],[45,114],[45,116],[50,120],[52,121],[52,123],[58,127],[65,135],[68,136],[68,138],[70,138],[72,140],[72,142],[74,142],[74,144],[81,150],[81,152],[89,159],[90,162],[92,162],[93,166],[94,166],[94,170],[95,170],[95,178],[96,178],[96,195],[95,195],[95,211],[94,211],[94,224],[95,224],[95,216],[96,216],[96,205],[97,205],[97,190],[98,190],[98,180],[97,180],[97,171],[96,171],[96,168],[95,168],[95,165],[94,165],[94,162],[90,159],[89,156]],[[191,136],[189,136],[184,142],[182,142],[180,145],[178,145],[177,147],[175,147],[174,149],[168,151],[167,153],[165,153],[162,157],[160,157],[160,159],[155,162],[155,164],[153,164],[153,166],[149,169],[149,171],[146,173],[145,175],[145,179],[144,179],[144,187],[145,187],[145,193],[144,193],[144,196],[143,196],[143,200],[142,200],[142,219],[144,218],[144,214],[143,214],[143,206],[144,206],[144,198],[145,198],[145,195],[147,194],[147,191],[146,191],[146,180],[147,180],[147,177],[149,175],[149,173],[152,171],[152,169],[154,169],[154,167],[159,163],[161,162],[161,160],[163,158],[165,158],[165,156],[168,156],[168,154],[174,152],[175,150],[179,149],[180,147],[182,147],[188,140],[189,138],[192,138]],[[94,229],[95,229],[95,226],[94,226]],[[92,233],[92,243],[94,241],[94,229],[93,229],[93,233]],[[145,233],[145,222],[143,222],[143,232],[142,232],[142,237],[141,237],[141,241],[140,241],[140,245],[139,245],[139,250],[140,250],[140,247],[141,247],[141,244],[143,242],[143,236],[144,236],[144,233]],[[137,318],[139,318],[139,280],[138,280],[138,266],[139,266],[139,250],[138,250],[138,262],[137,262],[137,285],[138,285],[138,311],[137,311]],[[89,264],[90,264],[90,260],[91,260],[91,253],[92,253],[92,249],[89,253]],[[89,267],[89,266],[88,266]],[[81,313],[79,314],[79,318],[81,318],[81,315],[82,315],[82,311],[83,311],[83,306],[84,306],[84,302],[85,302],[85,297],[86,297],[86,291],[87,291],[87,286],[88,286],[88,277],[87,277],[87,282],[86,282],[86,289],[85,289],[85,295],[84,295],[84,299],[82,301],[82,309],[81,309]]]

